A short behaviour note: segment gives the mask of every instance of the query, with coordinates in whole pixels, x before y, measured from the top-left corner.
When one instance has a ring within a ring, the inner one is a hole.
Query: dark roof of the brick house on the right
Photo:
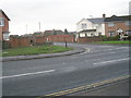
[[[110,17],[106,17],[105,22],[114,22],[114,21],[129,21],[131,20],[131,15],[123,15],[123,16],[117,16],[112,15]]]

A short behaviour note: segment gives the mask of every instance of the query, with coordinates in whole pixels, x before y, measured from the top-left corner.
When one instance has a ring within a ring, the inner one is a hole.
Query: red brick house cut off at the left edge
[[[9,21],[8,15],[0,10],[0,40],[9,40]]]

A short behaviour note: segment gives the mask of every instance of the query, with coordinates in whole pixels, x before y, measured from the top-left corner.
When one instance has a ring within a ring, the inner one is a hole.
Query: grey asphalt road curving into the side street
[[[82,47],[86,51],[67,57],[3,62],[3,96],[44,96],[129,74],[129,47],[68,46]]]

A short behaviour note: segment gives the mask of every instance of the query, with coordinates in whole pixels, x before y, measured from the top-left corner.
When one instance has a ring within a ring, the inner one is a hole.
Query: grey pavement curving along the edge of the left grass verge
[[[85,51],[84,48],[74,48],[71,51],[58,52],[58,53],[43,53],[43,54],[33,54],[33,56],[3,57],[2,61],[5,62],[5,61],[17,61],[17,60],[63,57],[63,56],[71,56],[71,54],[82,53],[84,51]]]

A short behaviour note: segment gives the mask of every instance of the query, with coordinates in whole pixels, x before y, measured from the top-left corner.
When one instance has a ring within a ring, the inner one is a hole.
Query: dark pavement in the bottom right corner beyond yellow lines
[[[68,96],[129,96],[129,79],[86,89]]]

